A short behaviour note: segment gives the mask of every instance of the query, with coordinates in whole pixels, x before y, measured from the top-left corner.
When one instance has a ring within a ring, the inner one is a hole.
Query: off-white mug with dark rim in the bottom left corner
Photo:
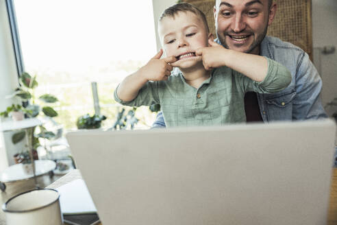
[[[19,193],[2,206],[7,225],[62,225],[60,194],[54,189]]]

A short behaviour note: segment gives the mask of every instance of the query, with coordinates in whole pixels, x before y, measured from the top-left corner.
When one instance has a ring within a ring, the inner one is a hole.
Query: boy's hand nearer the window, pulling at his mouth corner
[[[171,71],[173,67],[171,66],[171,62],[177,61],[177,58],[174,56],[169,56],[166,58],[160,59],[162,56],[162,49],[155,54],[147,64],[140,69],[140,72],[144,78],[152,81],[160,81],[167,80],[168,76],[171,75]]]

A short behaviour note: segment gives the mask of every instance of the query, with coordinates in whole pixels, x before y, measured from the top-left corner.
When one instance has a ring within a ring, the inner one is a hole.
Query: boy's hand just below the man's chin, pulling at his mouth
[[[203,67],[210,70],[225,66],[225,54],[228,49],[225,49],[214,40],[208,40],[208,47],[201,47],[195,51],[196,56],[202,56]]]

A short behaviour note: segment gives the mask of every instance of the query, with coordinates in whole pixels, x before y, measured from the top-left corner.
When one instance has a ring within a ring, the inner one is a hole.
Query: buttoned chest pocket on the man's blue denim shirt
[[[296,91],[272,95],[266,97],[266,110],[269,121],[291,120],[292,119],[292,100],[296,96]]]

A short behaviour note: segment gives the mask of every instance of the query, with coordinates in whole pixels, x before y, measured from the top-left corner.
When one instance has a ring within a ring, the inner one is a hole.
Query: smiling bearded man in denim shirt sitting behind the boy
[[[227,49],[271,58],[292,74],[292,82],[283,91],[246,95],[247,121],[325,118],[320,99],[322,81],[308,54],[295,45],[266,36],[276,9],[272,0],[216,0],[214,6],[217,43]],[[160,112],[153,127],[164,126]]]

